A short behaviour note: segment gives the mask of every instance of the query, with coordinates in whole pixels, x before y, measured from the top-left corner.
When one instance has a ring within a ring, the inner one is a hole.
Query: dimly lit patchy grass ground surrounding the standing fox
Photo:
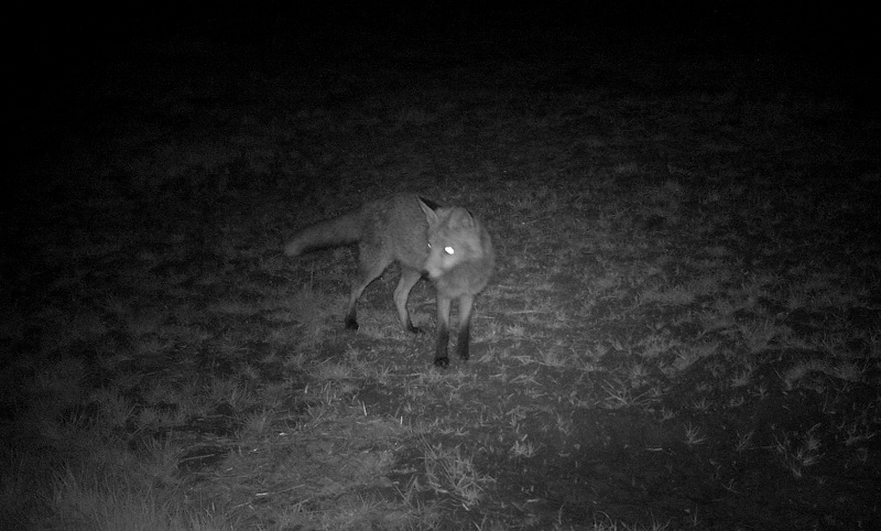
[[[877,120],[703,55],[200,50],[25,139],[54,187],[3,223],[0,527],[881,522]],[[447,370],[393,270],[350,333],[354,249],[281,254],[401,189],[499,254]]]

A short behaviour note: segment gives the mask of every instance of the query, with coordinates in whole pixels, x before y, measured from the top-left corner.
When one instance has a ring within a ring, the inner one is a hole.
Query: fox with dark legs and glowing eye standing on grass
[[[345,326],[358,329],[357,305],[365,289],[393,262],[401,277],[394,304],[404,329],[413,325],[406,303],[410,292],[425,278],[437,295],[437,344],[434,365],[449,366],[449,314],[458,302],[456,353],[469,358],[471,314],[475,297],[483,291],[496,268],[489,231],[463,207],[445,207],[414,193],[393,194],[362,204],[339,217],[319,221],[284,243],[287,257],[326,247],[358,243],[358,274],[346,306]]]

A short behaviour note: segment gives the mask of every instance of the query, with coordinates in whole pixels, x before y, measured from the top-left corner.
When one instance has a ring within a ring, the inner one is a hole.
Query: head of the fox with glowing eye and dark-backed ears
[[[432,209],[420,201],[428,221],[428,258],[423,272],[429,279],[438,279],[465,262],[482,257],[480,226],[465,208]]]

